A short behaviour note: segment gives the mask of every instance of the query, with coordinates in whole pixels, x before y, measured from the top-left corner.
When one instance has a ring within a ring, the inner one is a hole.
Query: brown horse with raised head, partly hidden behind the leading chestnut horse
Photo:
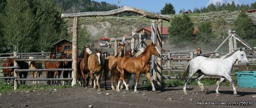
[[[112,68],[113,64],[119,60],[121,57],[123,57],[123,53],[124,53],[124,44],[120,44],[118,46],[118,51],[116,56],[108,56],[105,60],[104,60],[104,71],[103,71],[103,78],[105,80],[105,86],[104,88],[106,89],[106,80],[108,79],[108,72],[110,71],[110,69]],[[114,80],[114,76],[116,76],[116,86],[117,86],[117,81],[118,81],[118,73],[110,73],[111,75],[111,88],[113,90],[115,90],[114,84],[113,84],[113,80]]]

